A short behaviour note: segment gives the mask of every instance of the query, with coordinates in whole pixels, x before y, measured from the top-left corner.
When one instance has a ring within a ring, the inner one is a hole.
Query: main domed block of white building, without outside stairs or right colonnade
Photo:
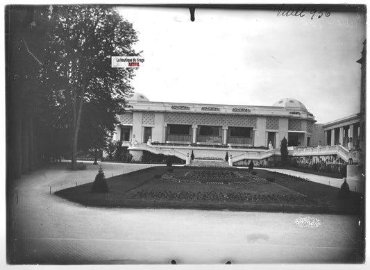
[[[273,106],[232,106],[151,102],[133,93],[128,104],[114,140],[278,148],[285,137],[289,146],[323,144],[315,135],[314,115],[296,99]]]

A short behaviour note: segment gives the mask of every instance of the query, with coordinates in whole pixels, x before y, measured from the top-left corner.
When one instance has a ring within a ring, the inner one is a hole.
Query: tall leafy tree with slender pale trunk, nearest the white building
[[[132,48],[137,35],[132,24],[109,6],[54,8],[52,19],[58,24],[50,34],[42,81],[53,91],[58,106],[65,108],[75,169],[81,119],[90,123],[94,135],[104,138],[114,131],[115,115],[124,110],[134,70],[110,67],[110,57],[137,56]],[[84,108],[89,113],[84,114]],[[89,140],[101,144],[96,137]]]

